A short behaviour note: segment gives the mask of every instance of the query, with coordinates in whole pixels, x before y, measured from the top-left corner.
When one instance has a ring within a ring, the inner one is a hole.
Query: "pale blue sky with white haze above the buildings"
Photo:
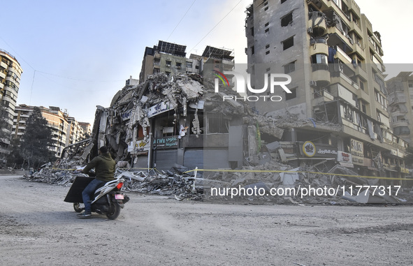
[[[373,30],[382,34],[384,62],[413,63],[412,34],[402,34],[413,24],[413,1],[356,2]],[[7,1],[1,12],[0,49],[13,54],[23,68],[17,104],[59,106],[92,124],[96,105],[108,107],[130,75],[138,78],[145,47],[158,40],[187,45],[188,56],[201,54],[206,45],[233,49],[236,63],[246,63],[245,8],[250,3]]]

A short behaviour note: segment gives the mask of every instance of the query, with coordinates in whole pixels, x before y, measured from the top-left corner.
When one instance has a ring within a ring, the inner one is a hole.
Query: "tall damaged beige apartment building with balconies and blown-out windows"
[[[391,130],[381,36],[356,1],[255,0],[246,13],[252,84],[261,88],[264,73],[291,76],[290,94],[275,91],[282,101],[256,110],[314,122],[287,129],[289,159],[404,177],[407,144]]]

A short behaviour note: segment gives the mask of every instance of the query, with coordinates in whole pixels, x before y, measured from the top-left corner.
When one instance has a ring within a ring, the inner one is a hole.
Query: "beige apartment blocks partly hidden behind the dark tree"
[[[62,112],[59,107],[50,106],[45,108],[38,107],[42,116],[48,121],[48,126],[52,129],[52,147],[50,150],[55,152],[57,157],[61,156],[64,147],[79,142],[85,137],[83,128],[73,117],[68,117],[66,112]],[[21,138],[26,129],[27,119],[34,110],[34,106],[18,105],[15,108],[13,118],[13,138]],[[89,124],[90,125],[90,124]]]

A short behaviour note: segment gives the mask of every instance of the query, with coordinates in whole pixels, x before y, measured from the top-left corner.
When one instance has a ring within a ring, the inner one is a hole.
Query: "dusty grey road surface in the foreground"
[[[413,265],[413,206],[217,205],[129,193],[78,219],[67,187],[0,177],[1,265]]]

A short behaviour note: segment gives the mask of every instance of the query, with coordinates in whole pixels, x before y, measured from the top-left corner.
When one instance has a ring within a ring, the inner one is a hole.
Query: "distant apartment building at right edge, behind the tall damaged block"
[[[393,133],[413,145],[413,72],[400,72],[386,81]]]

